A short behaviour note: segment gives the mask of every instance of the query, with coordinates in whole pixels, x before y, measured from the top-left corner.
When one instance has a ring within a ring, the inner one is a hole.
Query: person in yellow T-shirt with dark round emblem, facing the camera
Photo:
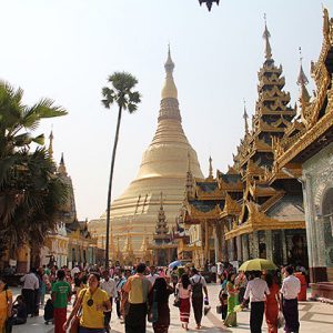
[[[72,319],[82,306],[79,333],[105,333],[104,312],[111,311],[110,299],[107,292],[99,287],[100,274],[89,274],[88,287],[79,293],[78,301],[63,325],[68,330]]]

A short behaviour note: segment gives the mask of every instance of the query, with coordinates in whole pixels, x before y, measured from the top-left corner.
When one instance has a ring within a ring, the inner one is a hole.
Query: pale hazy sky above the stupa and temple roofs
[[[142,102],[124,114],[112,198],[138,174],[142,153],[157,129],[168,43],[185,134],[208,175],[226,171],[258,99],[258,71],[264,61],[264,13],[275,63],[283,65],[285,90],[294,104],[300,69],[314,89],[310,63],[322,43],[322,6],[333,1],[222,0],[209,12],[198,0],[0,0],[0,79],[24,90],[33,104],[51,98],[67,117],[44,121],[53,129],[54,159],[64,154],[79,219],[99,218],[107,191],[117,108],[101,104],[101,89],[114,71],[139,80]]]

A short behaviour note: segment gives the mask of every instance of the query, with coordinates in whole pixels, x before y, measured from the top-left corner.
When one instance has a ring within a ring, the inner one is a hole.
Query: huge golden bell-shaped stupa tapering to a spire
[[[154,233],[160,193],[163,192],[167,198],[164,211],[172,228],[183,201],[188,163],[193,176],[203,178],[196,152],[182,128],[170,48],[164,68],[167,77],[161,92],[158,129],[143,153],[137,179],[111,205],[113,236],[120,236],[121,244],[124,245],[128,234],[123,234],[121,229],[130,221],[132,225],[130,236],[138,259],[142,255],[140,248],[143,238],[149,235],[152,239]],[[90,229],[105,234],[105,216],[107,213],[103,213],[100,219],[90,221]],[[123,256],[125,258],[127,253],[123,253]]]

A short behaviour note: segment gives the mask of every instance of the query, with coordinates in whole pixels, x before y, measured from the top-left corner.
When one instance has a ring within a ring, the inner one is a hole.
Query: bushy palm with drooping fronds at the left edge
[[[43,134],[32,133],[41,120],[67,111],[50,99],[28,107],[22,97],[22,89],[0,81],[0,239],[9,250],[24,243],[41,245],[67,199]]]

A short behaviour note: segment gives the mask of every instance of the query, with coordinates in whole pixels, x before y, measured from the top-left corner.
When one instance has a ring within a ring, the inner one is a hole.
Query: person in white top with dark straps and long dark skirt
[[[203,312],[203,292],[205,294],[205,304],[208,305],[208,289],[204,278],[202,278],[196,269],[191,269],[191,285],[192,285],[192,307],[194,312],[194,319],[196,323],[196,329],[201,327],[202,312]]]

